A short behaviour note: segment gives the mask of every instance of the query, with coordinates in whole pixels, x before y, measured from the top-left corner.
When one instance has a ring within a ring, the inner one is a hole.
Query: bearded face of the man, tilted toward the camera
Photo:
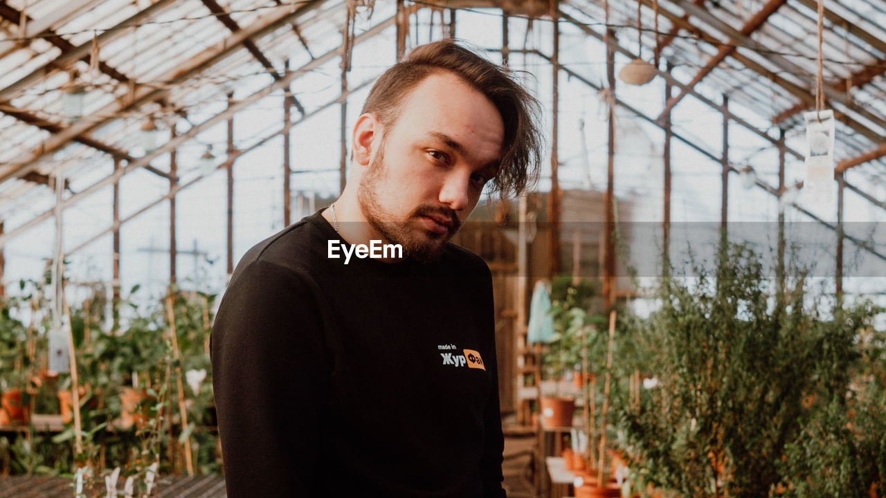
[[[503,137],[501,114],[482,93],[454,74],[427,76],[361,177],[363,215],[408,255],[436,258],[497,173]]]

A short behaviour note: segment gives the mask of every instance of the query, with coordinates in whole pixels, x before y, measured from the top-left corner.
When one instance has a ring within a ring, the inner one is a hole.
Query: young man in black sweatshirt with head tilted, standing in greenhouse
[[[451,42],[388,69],[330,208],[245,254],[212,332],[228,495],[504,496],[489,268],[450,244],[537,174],[538,103]]]

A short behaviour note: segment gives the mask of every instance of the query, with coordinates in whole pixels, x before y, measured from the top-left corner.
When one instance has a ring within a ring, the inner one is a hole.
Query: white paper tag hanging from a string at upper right
[[[806,121],[806,176],[803,182],[804,198],[829,202],[834,197],[834,111],[803,113]]]

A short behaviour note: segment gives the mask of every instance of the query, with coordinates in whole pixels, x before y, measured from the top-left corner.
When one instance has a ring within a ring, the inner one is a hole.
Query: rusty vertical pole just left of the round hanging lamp
[[[609,91],[611,92],[607,119],[609,121],[609,162],[607,167],[606,182],[606,201],[605,209],[605,231],[603,233],[605,246],[605,257],[603,275],[603,302],[606,311],[609,312],[615,307],[615,48],[613,41],[615,32],[611,29],[606,30],[606,79],[609,82]]]

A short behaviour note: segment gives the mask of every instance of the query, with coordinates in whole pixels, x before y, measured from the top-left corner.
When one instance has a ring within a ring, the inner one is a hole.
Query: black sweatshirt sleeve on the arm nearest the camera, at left
[[[229,498],[317,495],[328,367],[314,292],[286,268],[250,262],[225,293],[211,338]]]

